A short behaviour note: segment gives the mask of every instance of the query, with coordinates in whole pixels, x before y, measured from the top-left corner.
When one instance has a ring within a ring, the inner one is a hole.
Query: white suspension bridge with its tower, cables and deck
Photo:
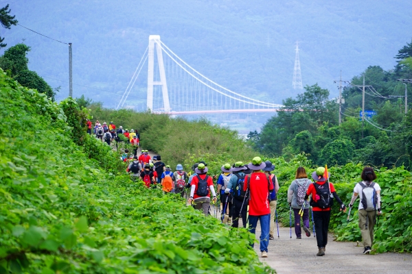
[[[149,45],[117,109],[122,108],[141,69],[148,62],[147,110],[163,114],[276,112],[282,105],[253,99],[220,86],[196,71],[169,49],[158,35]]]

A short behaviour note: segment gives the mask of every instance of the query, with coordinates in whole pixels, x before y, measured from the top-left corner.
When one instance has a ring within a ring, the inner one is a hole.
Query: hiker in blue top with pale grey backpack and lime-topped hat
[[[228,225],[231,225],[231,219],[233,214],[233,198],[231,197],[230,192],[225,192],[227,184],[229,184],[229,180],[232,176],[231,165],[224,164],[220,167],[220,170],[222,171],[222,173],[220,173],[218,177],[218,193],[220,193],[220,202],[222,203],[222,214],[220,215],[220,217],[223,218],[222,223],[227,223]],[[229,210],[229,216],[227,215],[227,210]]]

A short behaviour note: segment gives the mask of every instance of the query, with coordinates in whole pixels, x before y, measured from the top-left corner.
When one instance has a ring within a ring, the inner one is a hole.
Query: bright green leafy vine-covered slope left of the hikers
[[[131,182],[119,155],[85,134],[73,99],[1,72],[0,104],[1,273],[273,272],[246,230]]]

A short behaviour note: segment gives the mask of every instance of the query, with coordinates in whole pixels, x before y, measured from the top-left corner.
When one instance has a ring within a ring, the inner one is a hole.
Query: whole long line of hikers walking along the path
[[[91,134],[91,122],[87,122],[88,132]],[[221,223],[239,227],[242,220],[243,227],[255,234],[255,229],[260,222],[260,251],[262,258],[268,256],[269,240],[275,239],[275,224],[277,236],[279,227],[277,222],[277,192],[279,182],[273,173],[275,165],[271,161],[263,162],[260,157],[255,157],[249,164],[235,162],[223,164],[219,175],[209,175],[206,162],[193,164],[190,173],[183,169],[182,164],[177,164],[173,172],[168,164],[161,161],[161,155],[150,157],[148,150],[139,149],[139,134],[130,129],[119,129],[113,122],[108,126],[104,122],[100,125],[96,121],[93,133],[96,138],[107,142],[106,137],[119,140],[123,134],[130,142],[133,151],[124,149],[122,161],[128,162],[126,169],[135,181],[140,178],[146,187],[161,187],[164,192],[174,193],[185,197],[187,203],[196,210],[201,210],[205,216],[214,215],[220,218]],[[106,137],[105,137],[106,136]],[[117,149],[117,147],[116,147]],[[329,182],[330,173],[327,166],[319,166],[311,173],[311,179],[304,167],[299,166],[295,179],[291,182],[288,192],[290,238],[292,238],[292,212],[295,220],[295,235],[301,239],[304,230],[307,237],[311,236],[310,217],[312,218],[312,232],[317,239],[317,256],[324,256],[328,244],[328,227],[330,223],[331,208],[336,200],[341,211],[346,212],[347,206],[337,195],[334,185]],[[354,201],[359,197],[358,227],[363,238],[364,254],[370,253],[374,241],[374,225],[376,216],[382,214],[380,209],[380,186],[374,182],[376,174],[374,169],[366,166],[361,174],[362,182],[354,187],[350,203],[350,210]],[[215,184],[216,182],[216,190]],[[303,221],[303,223],[301,223]]]

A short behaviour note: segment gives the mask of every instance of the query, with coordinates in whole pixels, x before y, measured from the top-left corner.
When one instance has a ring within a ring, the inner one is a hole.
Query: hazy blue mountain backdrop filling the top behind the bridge
[[[340,71],[350,79],[369,65],[391,69],[411,40],[409,1],[52,1],[10,0],[19,23],[73,43],[73,96],[115,108],[148,46],[161,40],[209,79],[242,95],[273,103],[292,88],[295,42],[304,85],[336,96]],[[400,8],[402,7],[402,8]],[[8,46],[24,41],[29,68],[68,95],[68,47],[14,26],[1,29]],[[6,48],[7,49],[7,48]],[[147,65],[128,105],[146,104]],[[87,86],[89,88],[86,88]],[[94,88],[94,89],[93,89]]]

